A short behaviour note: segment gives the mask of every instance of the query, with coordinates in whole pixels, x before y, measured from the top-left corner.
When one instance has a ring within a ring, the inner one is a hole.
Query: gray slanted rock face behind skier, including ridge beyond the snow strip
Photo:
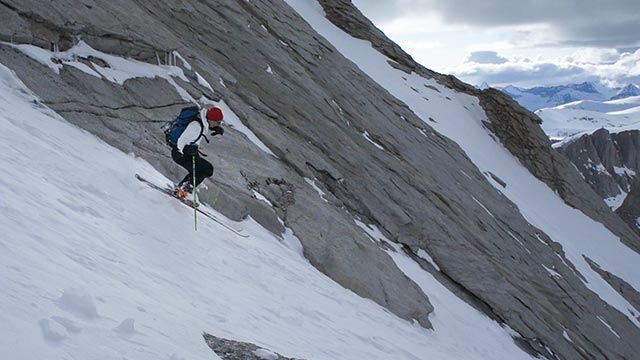
[[[443,283],[507,323],[532,353],[622,359],[640,351],[640,331],[585,287],[562,248],[528,224],[457,144],[433,132],[282,1],[0,4],[9,19],[0,24],[4,39],[47,47],[57,41],[66,48],[82,36],[100,51],[150,63],[178,49],[192,67],[178,62],[185,75],[195,79],[197,72],[213,91],[197,81],[173,80],[194,98],[224,99],[276,155],[228,128],[204,146],[216,170],[201,198],[232,219],[251,216],[276,234],[283,230],[282,220],[317,269],[399,317],[430,326],[428,294],[354,218],[379,226],[409,254],[427,250],[441,268]],[[338,26],[372,41],[400,68],[479,96],[487,126],[534,175],[638,249],[637,236],[550,148],[533,115],[503,94],[479,92],[415,64],[350,2],[322,5]],[[71,66],[57,75],[9,46],[0,46],[0,62],[67,120],[145,158],[173,179],[183,173],[168,157],[159,124],[151,122],[172,118],[185,105],[167,80],[131,79],[120,86]],[[364,131],[385,151],[365,139]],[[326,201],[305,178],[326,193]],[[542,265],[562,278],[549,276]],[[603,328],[597,316],[620,337]],[[563,338],[565,331],[572,342]]]

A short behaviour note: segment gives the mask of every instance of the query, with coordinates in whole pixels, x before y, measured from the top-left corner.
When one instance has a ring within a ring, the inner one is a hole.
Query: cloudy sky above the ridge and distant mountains
[[[640,0],[352,0],[422,65],[474,85],[640,84]]]

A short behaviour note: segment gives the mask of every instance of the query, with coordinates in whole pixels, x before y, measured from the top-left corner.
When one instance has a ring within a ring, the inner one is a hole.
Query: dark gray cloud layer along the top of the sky
[[[558,46],[640,46],[640,1],[609,0],[353,0],[376,23],[437,13],[447,24],[477,27],[546,24]]]

